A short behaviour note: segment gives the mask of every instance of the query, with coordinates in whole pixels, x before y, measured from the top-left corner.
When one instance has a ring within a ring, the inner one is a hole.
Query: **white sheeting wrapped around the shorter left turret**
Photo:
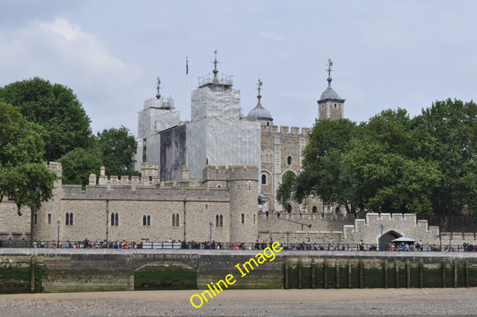
[[[149,105],[150,107],[146,108],[146,105]],[[138,115],[139,138],[147,138],[150,135],[180,124],[181,120],[179,112],[172,109],[158,108],[163,105],[164,103],[162,102],[162,99],[150,99],[144,102],[145,108]]]

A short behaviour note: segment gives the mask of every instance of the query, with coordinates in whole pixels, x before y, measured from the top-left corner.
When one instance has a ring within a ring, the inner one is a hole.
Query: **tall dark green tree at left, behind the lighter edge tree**
[[[26,120],[43,126],[47,161],[88,147],[90,120],[71,89],[35,77],[0,88],[0,100],[17,107]]]

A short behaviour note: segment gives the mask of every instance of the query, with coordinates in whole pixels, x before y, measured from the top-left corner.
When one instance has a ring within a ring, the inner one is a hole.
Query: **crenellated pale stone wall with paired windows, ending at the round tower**
[[[198,185],[192,179],[158,182],[157,164],[142,167],[142,179],[101,175],[84,190],[58,182],[54,200],[37,212],[33,239],[57,239],[58,226],[62,241],[203,242],[210,229],[215,241],[257,238],[257,167],[207,167]]]

